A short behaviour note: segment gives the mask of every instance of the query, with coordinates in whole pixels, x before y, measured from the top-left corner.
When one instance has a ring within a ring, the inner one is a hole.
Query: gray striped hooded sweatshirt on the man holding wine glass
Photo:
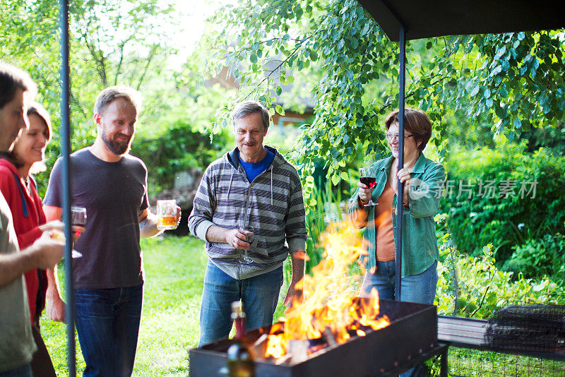
[[[210,261],[234,279],[268,273],[283,265],[288,253],[304,250],[306,224],[302,184],[298,172],[280,153],[270,167],[249,183],[235,148],[210,164],[189,216],[191,234],[206,241],[211,225],[236,229],[251,225],[252,263],[238,262],[240,251],[230,244],[206,242]],[[285,243],[286,241],[286,243]]]

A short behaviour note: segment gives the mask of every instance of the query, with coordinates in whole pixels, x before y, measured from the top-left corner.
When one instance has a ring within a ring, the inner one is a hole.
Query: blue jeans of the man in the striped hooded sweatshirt
[[[231,304],[239,299],[242,300],[248,330],[272,325],[282,285],[283,266],[249,279],[237,280],[208,260],[200,308],[198,347],[230,335]]]

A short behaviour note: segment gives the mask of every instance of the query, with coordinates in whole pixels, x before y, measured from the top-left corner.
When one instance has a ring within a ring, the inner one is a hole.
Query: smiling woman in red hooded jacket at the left
[[[45,169],[45,146],[51,138],[51,119],[47,110],[33,102],[28,109],[29,128],[21,131],[11,152],[0,155],[0,191],[12,211],[13,225],[20,249],[35,241],[42,232],[62,230],[59,221],[45,223],[41,198],[30,173]],[[47,277],[44,270],[25,273],[28,302],[32,318],[32,333],[37,345],[31,362],[34,376],[55,377],[55,370],[40,334],[40,316],[45,306]]]

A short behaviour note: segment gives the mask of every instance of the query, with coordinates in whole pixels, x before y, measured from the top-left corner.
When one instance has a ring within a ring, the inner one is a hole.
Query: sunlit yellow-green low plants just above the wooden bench
[[[493,245],[473,258],[460,254],[448,234],[440,240],[439,281],[436,290],[438,313],[472,318],[489,318],[509,305],[564,304],[563,280],[526,279],[522,274],[499,270],[494,265]],[[559,285],[557,284],[559,282]]]

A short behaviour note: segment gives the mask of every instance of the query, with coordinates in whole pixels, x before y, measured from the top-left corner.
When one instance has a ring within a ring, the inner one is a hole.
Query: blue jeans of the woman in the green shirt
[[[396,275],[395,261],[376,263],[376,273],[365,273],[361,296],[367,296],[371,289],[379,291],[379,298],[393,300]],[[400,280],[400,301],[434,304],[437,286],[437,261],[418,275],[409,275]]]

